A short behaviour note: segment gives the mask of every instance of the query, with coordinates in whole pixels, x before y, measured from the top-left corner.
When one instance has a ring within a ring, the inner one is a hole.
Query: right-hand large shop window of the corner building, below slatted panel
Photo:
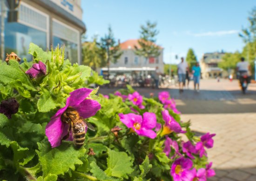
[[[77,44],[67,41],[65,39],[61,39],[58,37],[54,37],[54,47],[58,45],[65,45],[65,59],[69,59],[69,61],[74,64],[78,62],[77,57]]]

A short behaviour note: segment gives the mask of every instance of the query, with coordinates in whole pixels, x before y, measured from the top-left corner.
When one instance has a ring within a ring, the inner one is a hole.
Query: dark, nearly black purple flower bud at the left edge
[[[9,98],[7,100],[3,100],[0,104],[0,113],[4,114],[8,117],[8,119],[12,118],[12,114],[18,112],[20,104],[16,101],[14,97]]]

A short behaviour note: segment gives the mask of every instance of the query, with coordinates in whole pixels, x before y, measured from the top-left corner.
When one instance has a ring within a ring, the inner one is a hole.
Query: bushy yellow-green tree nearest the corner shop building
[[[94,38],[93,42],[84,42],[82,44],[82,62],[84,65],[88,65],[94,71],[102,65],[106,65],[106,60],[102,58],[104,53],[102,53],[101,47],[97,45],[97,39]],[[105,53],[106,57],[106,53]]]

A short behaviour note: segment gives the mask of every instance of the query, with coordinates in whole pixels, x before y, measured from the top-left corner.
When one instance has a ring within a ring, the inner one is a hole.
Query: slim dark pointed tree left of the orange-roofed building
[[[101,38],[100,47],[102,49],[101,57],[104,57],[105,52],[107,53],[107,66],[109,75],[110,62],[116,63],[118,58],[120,58],[123,53],[121,52],[120,45],[115,41],[111,26],[108,27],[108,34],[105,34],[105,36]]]

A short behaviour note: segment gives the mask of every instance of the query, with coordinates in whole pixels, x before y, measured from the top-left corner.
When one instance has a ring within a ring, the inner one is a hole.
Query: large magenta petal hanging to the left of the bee
[[[52,148],[60,146],[64,128],[67,127],[64,124],[60,117],[56,117],[46,125],[45,134]],[[67,130],[65,132],[67,134]]]

